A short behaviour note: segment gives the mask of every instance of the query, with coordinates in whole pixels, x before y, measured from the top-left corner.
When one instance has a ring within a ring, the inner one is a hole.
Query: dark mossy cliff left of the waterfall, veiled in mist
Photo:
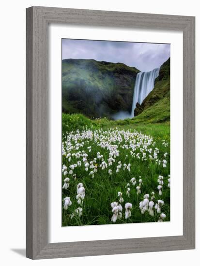
[[[62,60],[62,112],[108,117],[131,112],[139,70],[93,59]]]

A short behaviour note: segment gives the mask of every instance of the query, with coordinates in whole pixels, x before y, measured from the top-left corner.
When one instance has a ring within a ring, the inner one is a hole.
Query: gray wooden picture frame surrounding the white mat
[[[195,17],[30,7],[26,21],[26,256],[45,259],[194,249]],[[48,243],[48,23],[183,31],[183,236]]]

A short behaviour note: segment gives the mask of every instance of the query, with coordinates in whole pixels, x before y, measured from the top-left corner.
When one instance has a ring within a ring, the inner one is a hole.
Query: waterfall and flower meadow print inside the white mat
[[[62,226],[170,221],[170,44],[62,39]]]

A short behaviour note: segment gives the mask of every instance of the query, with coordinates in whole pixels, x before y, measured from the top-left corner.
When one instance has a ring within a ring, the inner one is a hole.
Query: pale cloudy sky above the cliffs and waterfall
[[[121,62],[143,72],[160,67],[169,57],[170,44],[62,39],[62,59]]]

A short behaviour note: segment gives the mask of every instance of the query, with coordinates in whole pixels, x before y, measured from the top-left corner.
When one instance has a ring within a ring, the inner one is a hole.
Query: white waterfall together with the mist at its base
[[[133,93],[133,104],[131,114],[126,111],[119,111],[112,116],[114,120],[134,118],[136,103],[141,104],[147,95],[154,89],[154,81],[158,77],[160,68],[154,68],[148,72],[139,72],[136,76],[136,83]]]

